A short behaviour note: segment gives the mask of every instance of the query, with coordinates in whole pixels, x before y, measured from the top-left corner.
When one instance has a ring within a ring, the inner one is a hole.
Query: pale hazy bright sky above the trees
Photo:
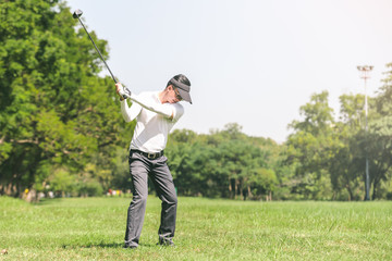
[[[113,74],[133,92],[176,75],[193,104],[174,128],[198,134],[237,123],[284,142],[314,94],[365,94],[357,65],[373,65],[367,94],[392,62],[390,0],[68,0],[109,45]],[[106,71],[106,70],[105,70]],[[105,72],[106,74],[107,71]],[[114,87],[113,87],[114,90]],[[120,113],[120,109],[119,109]]]

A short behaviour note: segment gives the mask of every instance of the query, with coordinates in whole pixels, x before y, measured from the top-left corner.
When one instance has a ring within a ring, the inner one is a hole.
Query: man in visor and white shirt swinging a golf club
[[[159,245],[174,246],[177,198],[173,177],[168,167],[163,150],[173,125],[184,114],[181,100],[192,103],[191,83],[185,75],[171,78],[162,91],[131,94],[120,83],[115,85],[120,96],[121,113],[125,122],[136,119],[130,146],[130,173],[133,199],[127,210],[125,248],[137,248],[142,234],[148,196],[148,176],[162,201],[161,221],[158,231]],[[128,107],[122,94],[132,100]]]

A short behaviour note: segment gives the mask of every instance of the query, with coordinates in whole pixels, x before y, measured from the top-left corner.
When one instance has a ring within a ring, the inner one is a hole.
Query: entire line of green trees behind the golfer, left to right
[[[91,37],[108,58],[107,41]],[[232,199],[360,200],[365,159],[372,199],[391,198],[392,63],[369,97],[328,91],[299,108],[286,142],[249,137],[229,123],[198,135],[174,130],[166,149],[179,195]],[[84,29],[58,0],[2,1],[0,9],[0,195],[75,196],[128,190],[125,123],[110,77]]]

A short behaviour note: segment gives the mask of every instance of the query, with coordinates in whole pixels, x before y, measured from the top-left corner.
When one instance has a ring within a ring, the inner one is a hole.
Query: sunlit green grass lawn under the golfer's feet
[[[0,260],[392,260],[392,202],[179,198],[176,247],[157,246],[148,198],[140,247],[123,249],[131,198],[38,204],[0,197]]]

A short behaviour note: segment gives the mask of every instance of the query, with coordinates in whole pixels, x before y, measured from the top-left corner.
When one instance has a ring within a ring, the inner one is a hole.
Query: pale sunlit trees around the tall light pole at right
[[[387,67],[390,70],[392,64]],[[314,95],[309,103],[301,107],[305,119],[290,125],[295,132],[287,140],[286,162],[296,164],[297,183],[291,185],[293,191],[305,198],[321,199],[318,188],[327,186],[332,189],[332,199],[364,199],[365,162],[368,159],[372,199],[387,197],[392,166],[392,71],[385,74],[378,96],[368,98],[367,117],[363,95],[340,97],[339,122],[333,121],[326,91]]]

